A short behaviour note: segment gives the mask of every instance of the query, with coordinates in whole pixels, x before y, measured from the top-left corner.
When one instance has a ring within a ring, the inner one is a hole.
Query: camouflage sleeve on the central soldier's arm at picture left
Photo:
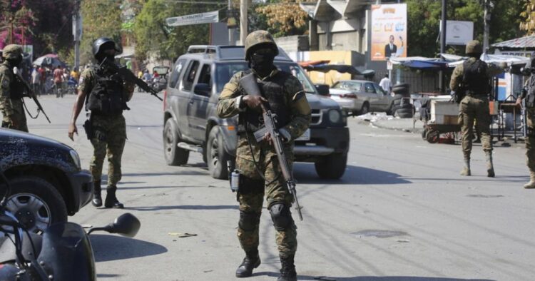
[[[219,96],[218,101],[218,116],[220,118],[230,118],[240,113],[240,95],[238,81],[240,81],[241,73],[236,73],[230,81],[225,84],[223,91]]]

